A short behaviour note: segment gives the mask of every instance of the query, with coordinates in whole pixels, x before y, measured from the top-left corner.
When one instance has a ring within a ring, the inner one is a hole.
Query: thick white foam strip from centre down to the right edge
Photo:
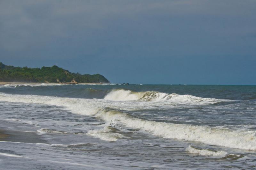
[[[256,150],[255,131],[231,131],[204,126],[145,121],[120,115],[113,116],[112,118],[127,127],[143,129],[151,132],[155,136],[164,138],[183,139],[211,145]]]

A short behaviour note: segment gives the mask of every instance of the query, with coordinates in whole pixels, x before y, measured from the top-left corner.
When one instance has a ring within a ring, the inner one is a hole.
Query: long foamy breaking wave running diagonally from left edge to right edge
[[[111,102],[102,99],[74,99],[4,93],[0,93],[0,101],[62,106],[62,108],[65,107],[75,114],[100,117],[105,120],[108,125],[122,125],[127,128],[141,129],[159,137],[256,151],[256,131],[229,130],[210,128],[207,126],[142,120],[126,113],[122,113],[121,111],[111,109],[111,107],[120,106],[120,102]],[[133,104],[134,102],[131,102],[131,107],[133,107]],[[146,103],[144,104],[147,106]],[[123,137],[119,134],[113,134],[113,132],[108,131],[108,129],[91,130],[88,131],[87,134],[108,141],[110,141],[109,138],[111,138],[111,141],[115,141],[117,138]],[[113,134],[113,136],[106,137],[106,134]]]

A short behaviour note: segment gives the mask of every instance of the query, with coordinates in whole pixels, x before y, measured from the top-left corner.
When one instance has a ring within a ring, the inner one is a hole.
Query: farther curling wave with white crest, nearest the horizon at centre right
[[[131,90],[114,89],[109,92],[105,97],[105,100],[112,101],[155,101],[155,102],[171,102],[177,104],[214,104],[218,102],[233,101],[233,100],[220,100],[214,98],[201,98],[192,95],[180,95],[176,93],[168,94],[163,92],[134,92]]]

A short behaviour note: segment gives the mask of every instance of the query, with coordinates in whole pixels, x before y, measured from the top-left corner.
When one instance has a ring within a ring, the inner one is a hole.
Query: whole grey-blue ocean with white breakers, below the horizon
[[[0,129],[0,169],[256,169],[256,86],[4,85]]]

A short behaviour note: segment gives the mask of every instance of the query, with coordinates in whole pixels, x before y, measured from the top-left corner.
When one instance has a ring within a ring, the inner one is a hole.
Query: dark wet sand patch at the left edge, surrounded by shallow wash
[[[21,132],[14,130],[0,129],[0,141],[23,142],[23,143],[47,143],[41,139],[36,132]]]

